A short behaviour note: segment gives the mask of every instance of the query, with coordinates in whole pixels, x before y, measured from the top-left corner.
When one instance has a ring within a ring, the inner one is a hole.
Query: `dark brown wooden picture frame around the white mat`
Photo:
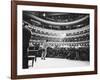
[[[17,46],[18,46],[17,5],[93,9],[94,10],[94,71],[17,75],[17,53],[18,53],[17,52]],[[63,3],[47,3],[47,2],[15,1],[15,0],[11,1],[11,78],[12,79],[90,75],[90,74],[97,74],[97,6],[96,5],[63,4]]]

